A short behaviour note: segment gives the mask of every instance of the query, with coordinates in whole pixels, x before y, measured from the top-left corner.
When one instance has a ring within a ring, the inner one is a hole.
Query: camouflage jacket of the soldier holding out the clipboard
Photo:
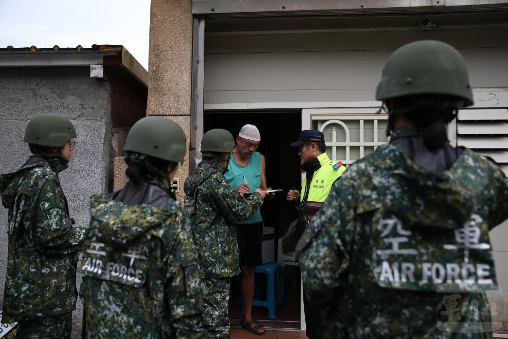
[[[206,278],[240,274],[235,224],[263,204],[259,193],[246,200],[230,186],[222,165],[205,158],[185,180],[185,207],[192,213],[201,271]]]

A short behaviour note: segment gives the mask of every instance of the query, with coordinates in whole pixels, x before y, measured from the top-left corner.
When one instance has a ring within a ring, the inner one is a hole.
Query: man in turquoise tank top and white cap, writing
[[[228,183],[240,194],[261,188],[267,190],[265,157],[256,151],[261,141],[259,130],[254,125],[245,125],[236,137],[236,147],[224,175]],[[274,194],[267,196],[273,199]],[[252,217],[236,224],[244,313],[241,325],[252,333],[265,333],[262,326],[252,319],[252,299],[254,298],[254,268],[263,263],[261,244],[263,242],[263,219],[258,208]]]

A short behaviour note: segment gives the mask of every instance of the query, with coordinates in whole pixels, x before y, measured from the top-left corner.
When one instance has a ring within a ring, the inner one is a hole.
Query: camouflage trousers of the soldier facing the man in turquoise
[[[208,338],[228,338],[230,278],[204,278],[201,286],[203,320],[208,331]]]

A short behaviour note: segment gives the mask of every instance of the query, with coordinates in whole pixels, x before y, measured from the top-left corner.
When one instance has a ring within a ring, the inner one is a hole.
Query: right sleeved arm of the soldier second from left
[[[178,338],[206,337],[203,328],[201,272],[190,223],[182,218],[182,230],[167,261],[166,300]]]

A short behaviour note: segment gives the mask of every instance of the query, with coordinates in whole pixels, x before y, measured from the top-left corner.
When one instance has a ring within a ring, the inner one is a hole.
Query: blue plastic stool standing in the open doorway
[[[278,262],[256,266],[256,291],[254,292],[253,306],[268,307],[268,318],[275,319],[275,311],[280,305],[286,307],[284,295],[284,275],[282,266]],[[265,281],[260,274],[266,274]]]

